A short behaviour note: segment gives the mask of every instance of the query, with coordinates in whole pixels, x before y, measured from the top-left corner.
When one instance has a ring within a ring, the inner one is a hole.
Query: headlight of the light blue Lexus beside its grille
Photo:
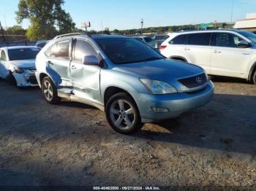
[[[172,85],[167,84],[166,82],[161,82],[152,79],[140,79],[140,82],[145,85],[148,92],[151,94],[169,94],[177,93],[177,90]]]

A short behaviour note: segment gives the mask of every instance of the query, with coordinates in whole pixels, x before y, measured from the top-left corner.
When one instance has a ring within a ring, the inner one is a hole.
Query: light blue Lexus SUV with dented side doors
[[[45,101],[96,106],[120,133],[178,117],[208,103],[214,93],[199,66],[166,59],[127,36],[56,36],[37,55],[36,67]]]

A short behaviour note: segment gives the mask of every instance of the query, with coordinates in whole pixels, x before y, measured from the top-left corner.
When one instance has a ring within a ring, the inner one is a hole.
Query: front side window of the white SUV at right
[[[238,42],[243,40],[235,34],[216,33],[215,44],[217,47],[238,47]]]

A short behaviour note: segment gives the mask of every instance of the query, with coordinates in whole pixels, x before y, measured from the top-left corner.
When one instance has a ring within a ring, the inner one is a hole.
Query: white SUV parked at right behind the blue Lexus
[[[162,55],[195,63],[208,74],[238,77],[256,84],[256,35],[238,30],[187,31],[170,34]]]

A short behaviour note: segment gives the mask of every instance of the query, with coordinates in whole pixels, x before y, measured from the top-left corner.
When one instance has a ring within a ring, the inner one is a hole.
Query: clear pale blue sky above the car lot
[[[243,19],[246,13],[256,12],[256,0],[233,0],[233,20]],[[196,23],[230,22],[232,0],[66,0],[64,9],[77,27],[91,21],[91,29],[113,29],[173,26]],[[16,25],[18,0],[1,0],[0,21],[4,27]],[[23,22],[27,28],[29,21]]]

